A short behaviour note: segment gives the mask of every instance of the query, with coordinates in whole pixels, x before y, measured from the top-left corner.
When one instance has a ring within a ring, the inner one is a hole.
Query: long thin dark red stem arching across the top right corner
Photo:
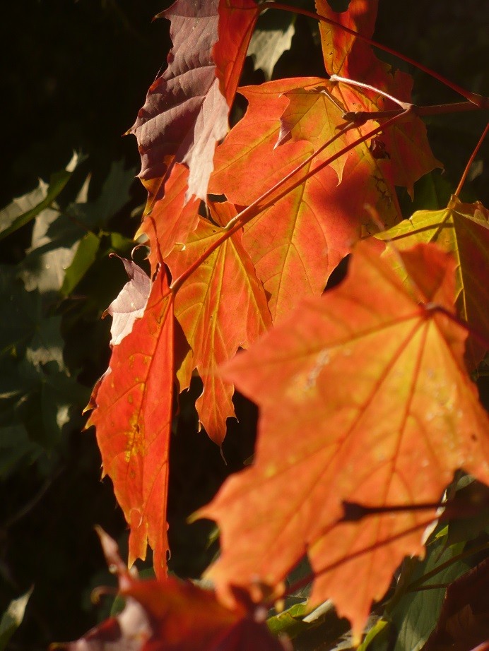
[[[451,88],[452,90],[454,90],[454,92],[458,93],[462,97],[465,97],[466,100],[469,100],[469,102],[472,102],[478,108],[480,109],[489,108],[488,97],[483,97],[482,95],[478,95],[476,92],[471,92],[470,90],[465,90],[465,88],[461,88],[461,86],[443,77],[442,75],[438,74],[431,68],[428,68],[427,66],[423,66],[423,64],[418,63],[418,61],[411,59],[410,56],[406,56],[406,54],[401,54],[400,52],[397,52],[395,49],[391,49],[391,47],[388,47],[387,45],[382,45],[381,43],[367,36],[364,36],[363,34],[360,34],[360,32],[355,32],[355,30],[350,30],[350,28],[346,27],[345,25],[341,25],[341,23],[338,23],[336,20],[331,20],[331,18],[326,18],[326,16],[321,16],[321,14],[314,13],[313,11],[307,11],[307,9],[291,7],[286,4],[281,4],[280,2],[273,2],[271,0],[266,0],[266,2],[262,3],[259,6],[259,8],[260,11],[264,11],[265,9],[281,9],[282,11],[290,11],[291,13],[300,13],[302,14],[302,16],[307,16],[308,18],[312,18],[313,20],[319,20],[320,23],[327,23],[328,25],[334,25],[334,27],[343,30],[343,32],[347,32],[348,34],[357,37],[361,41],[369,45],[372,45],[373,47],[377,47],[377,49],[383,50],[383,52],[387,52],[392,56],[396,56],[397,59],[401,59],[401,61],[405,61],[406,64],[410,64],[411,66],[418,68],[418,70],[423,71],[430,77],[433,77],[437,81],[440,81],[440,83],[448,86],[448,88]]]

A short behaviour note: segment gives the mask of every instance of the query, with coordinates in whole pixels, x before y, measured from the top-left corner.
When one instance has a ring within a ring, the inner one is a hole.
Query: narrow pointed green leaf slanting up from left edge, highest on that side
[[[40,215],[43,210],[49,208],[68,183],[77,164],[78,155],[75,154],[66,169],[52,174],[49,185],[40,180],[39,186],[35,190],[14,199],[4,210],[1,210],[0,240],[16,232],[20,227]]]

